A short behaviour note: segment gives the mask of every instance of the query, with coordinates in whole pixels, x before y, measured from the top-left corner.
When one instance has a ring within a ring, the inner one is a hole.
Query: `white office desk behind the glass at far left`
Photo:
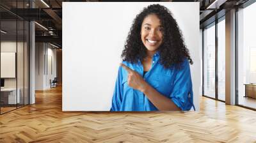
[[[16,88],[4,88],[1,89],[1,101],[4,104],[16,104],[20,103],[20,89],[17,89],[18,94],[16,98]]]

